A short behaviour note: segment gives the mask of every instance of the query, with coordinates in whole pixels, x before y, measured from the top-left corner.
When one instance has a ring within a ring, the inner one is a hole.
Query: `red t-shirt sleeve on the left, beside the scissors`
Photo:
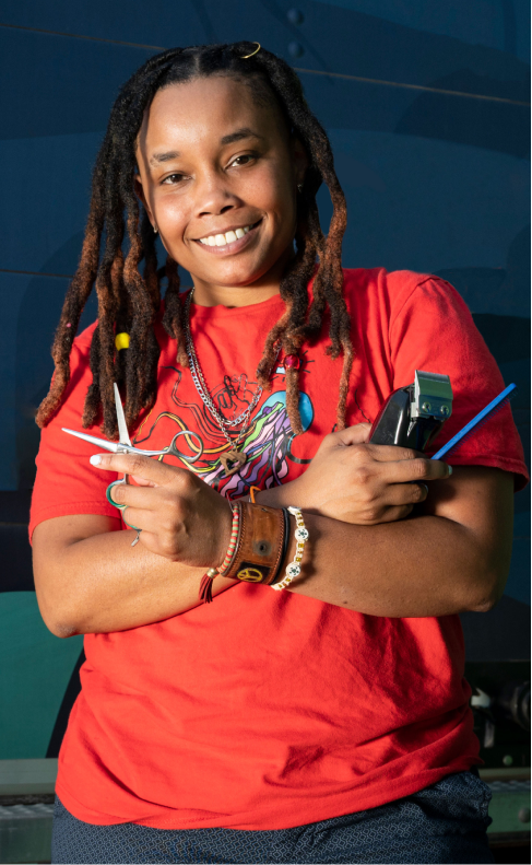
[[[62,404],[42,431],[29,514],[29,539],[38,523],[56,516],[118,516],[117,509],[105,498],[107,486],[118,475],[91,466],[88,458],[97,454],[98,448],[61,429],[66,426],[105,439],[98,426],[83,430],[81,425],[83,405],[92,382],[88,350],[86,339],[74,342],[70,356],[71,376]]]

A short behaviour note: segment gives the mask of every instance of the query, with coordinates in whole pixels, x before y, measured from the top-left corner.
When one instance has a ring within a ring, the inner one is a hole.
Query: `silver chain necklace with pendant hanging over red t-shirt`
[[[200,366],[200,362],[198,360],[198,355],[196,353],[194,343],[192,341],[192,331],[190,329],[190,304],[192,303],[192,295],[193,295],[193,288],[190,290],[189,295],[185,302],[185,339],[186,339],[186,349],[187,349],[187,358],[189,362],[190,373],[192,375],[192,381],[196,385],[196,389],[200,395],[202,401],[213,416],[214,420],[216,421],[217,425],[220,426],[227,445],[229,446],[229,451],[226,451],[225,454],[221,454],[220,461],[222,463],[225,474],[227,477],[230,477],[236,471],[238,471],[246,463],[247,456],[241,451],[238,449],[239,444],[241,443],[244,436],[249,426],[249,422],[251,419],[251,412],[256,408],[259,399],[262,396],[262,387],[261,385],[257,385],[257,389],[253,394],[251,402],[247,407],[245,411],[243,411],[238,418],[234,418],[233,420],[228,421],[217,410],[214,401],[209,393],[209,388],[206,386],[206,382],[203,375],[203,372]],[[275,361],[279,356],[279,351],[275,356]],[[274,361],[274,364],[275,364]],[[236,439],[232,439],[229,436],[228,430],[232,430],[234,426],[241,425],[241,429],[238,432]]]

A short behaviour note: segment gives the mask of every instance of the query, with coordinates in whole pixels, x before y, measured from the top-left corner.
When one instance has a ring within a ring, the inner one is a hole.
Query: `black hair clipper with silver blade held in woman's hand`
[[[416,370],[415,382],[394,390],[383,404],[369,441],[425,451],[451,413],[449,376]]]

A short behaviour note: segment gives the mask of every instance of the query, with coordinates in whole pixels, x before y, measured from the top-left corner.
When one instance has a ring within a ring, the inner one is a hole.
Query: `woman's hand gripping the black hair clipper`
[[[451,474],[446,463],[416,451],[369,444],[370,429],[358,423],[326,435],[305,474],[291,483],[298,507],[359,526],[392,523],[425,501],[427,481]]]

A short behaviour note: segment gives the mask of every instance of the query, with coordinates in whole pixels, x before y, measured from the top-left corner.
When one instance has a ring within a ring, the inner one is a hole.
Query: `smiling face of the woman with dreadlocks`
[[[306,155],[274,104],[227,77],[155,95],[139,135],[137,191],[169,255],[208,287],[281,274]]]

